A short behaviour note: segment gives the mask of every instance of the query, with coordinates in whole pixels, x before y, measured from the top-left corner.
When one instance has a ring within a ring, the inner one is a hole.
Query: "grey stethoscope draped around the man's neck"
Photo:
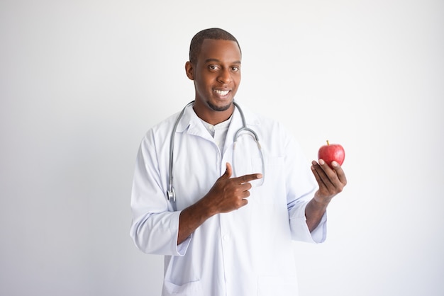
[[[172,200],[174,202],[173,207],[175,210],[175,203],[176,203],[176,192],[174,191],[174,187],[172,186],[172,161],[173,161],[173,152],[174,152],[174,135],[176,134],[176,130],[177,130],[177,125],[179,125],[179,121],[182,118],[182,116],[184,115],[185,109],[187,109],[188,106],[192,105],[194,103],[194,101],[189,102],[187,104],[187,106],[185,106],[182,111],[179,113],[179,116],[177,117],[176,122],[174,123],[174,126],[172,128],[172,132],[171,132],[171,140],[170,140],[170,179],[168,181],[168,190],[167,190],[167,199],[168,200]],[[233,101],[233,104],[236,108],[238,108],[239,113],[240,113],[240,118],[242,118],[242,127],[240,127],[240,129],[235,132],[234,135],[234,139],[233,139],[233,155],[235,152],[235,147],[236,147],[236,142],[238,141],[238,137],[240,136],[241,132],[248,132],[250,135],[252,135],[252,137],[254,138],[256,144],[257,144],[257,148],[259,149],[260,152],[260,158],[262,161],[262,180],[261,182],[263,183],[264,181],[264,177],[265,177],[265,165],[264,165],[264,154],[262,152],[262,147],[260,146],[260,142],[259,142],[259,137],[257,137],[257,134],[254,130],[250,129],[249,127],[247,127],[247,123],[245,121],[245,116],[243,115],[243,111],[242,109],[239,107],[239,105],[237,103],[235,103],[235,101]],[[235,157],[233,156],[233,170],[235,171],[235,164],[234,164],[234,159]]]

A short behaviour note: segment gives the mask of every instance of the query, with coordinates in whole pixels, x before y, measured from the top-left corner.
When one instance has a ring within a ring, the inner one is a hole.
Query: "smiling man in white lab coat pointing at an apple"
[[[337,163],[331,169],[319,159],[310,168],[292,135],[248,110],[246,125],[263,156],[248,133],[233,154],[243,127],[233,104],[241,57],[225,30],[197,33],[185,64],[194,103],[178,121],[175,114],[152,127],[140,144],[131,237],[141,251],[165,256],[164,296],[297,295],[292,239],[325,240],[326,208],[347,182]],[[166,193],[176,122],[174,201]]]

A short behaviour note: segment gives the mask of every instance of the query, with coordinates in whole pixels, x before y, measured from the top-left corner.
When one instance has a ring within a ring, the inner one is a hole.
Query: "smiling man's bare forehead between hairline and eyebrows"
[[[205,39],[202,42],[198,62],[207,59],[218,59],[221,62],[240,62],[241,55],[238,43],[231,40]]]

